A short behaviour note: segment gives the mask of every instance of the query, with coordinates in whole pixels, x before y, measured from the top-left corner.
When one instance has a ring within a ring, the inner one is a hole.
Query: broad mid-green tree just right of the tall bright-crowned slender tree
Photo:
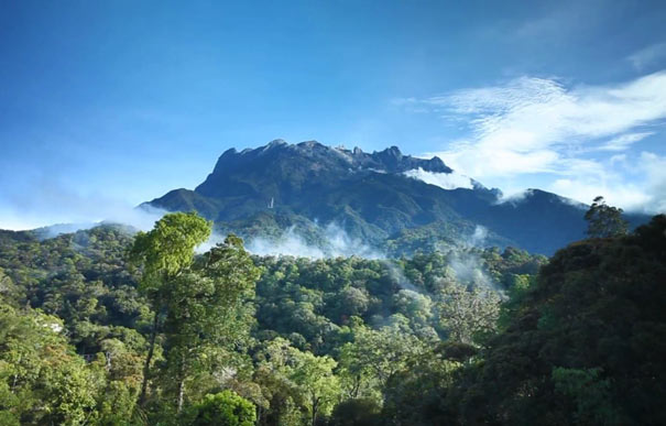
[[[178,412],[192,375],[227,367],[247,346],[253,320],[247,302],[259,275],[242,240],[229,236],[164,287],[166,370],[176,379]]]

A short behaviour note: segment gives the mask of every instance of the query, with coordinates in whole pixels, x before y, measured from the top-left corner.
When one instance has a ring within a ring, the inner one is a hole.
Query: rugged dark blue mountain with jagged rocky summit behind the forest
[[[291,232],[330,250],[331,237],[343,236],[393,255],[470,241],[552,254],[583,238],[586,205],[538,189],[505,203],[501,196],[438,157],[403,155],[396,146],[365,153],[275,140],[230,149],[194,190],[142,206],[196,210],[221,232],[250,240]]]

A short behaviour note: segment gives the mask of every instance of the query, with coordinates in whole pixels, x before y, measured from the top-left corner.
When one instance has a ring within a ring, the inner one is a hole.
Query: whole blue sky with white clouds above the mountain
[[[0,1],[0,228],[118,217],[282,138],[666,209],[663,1]]]

